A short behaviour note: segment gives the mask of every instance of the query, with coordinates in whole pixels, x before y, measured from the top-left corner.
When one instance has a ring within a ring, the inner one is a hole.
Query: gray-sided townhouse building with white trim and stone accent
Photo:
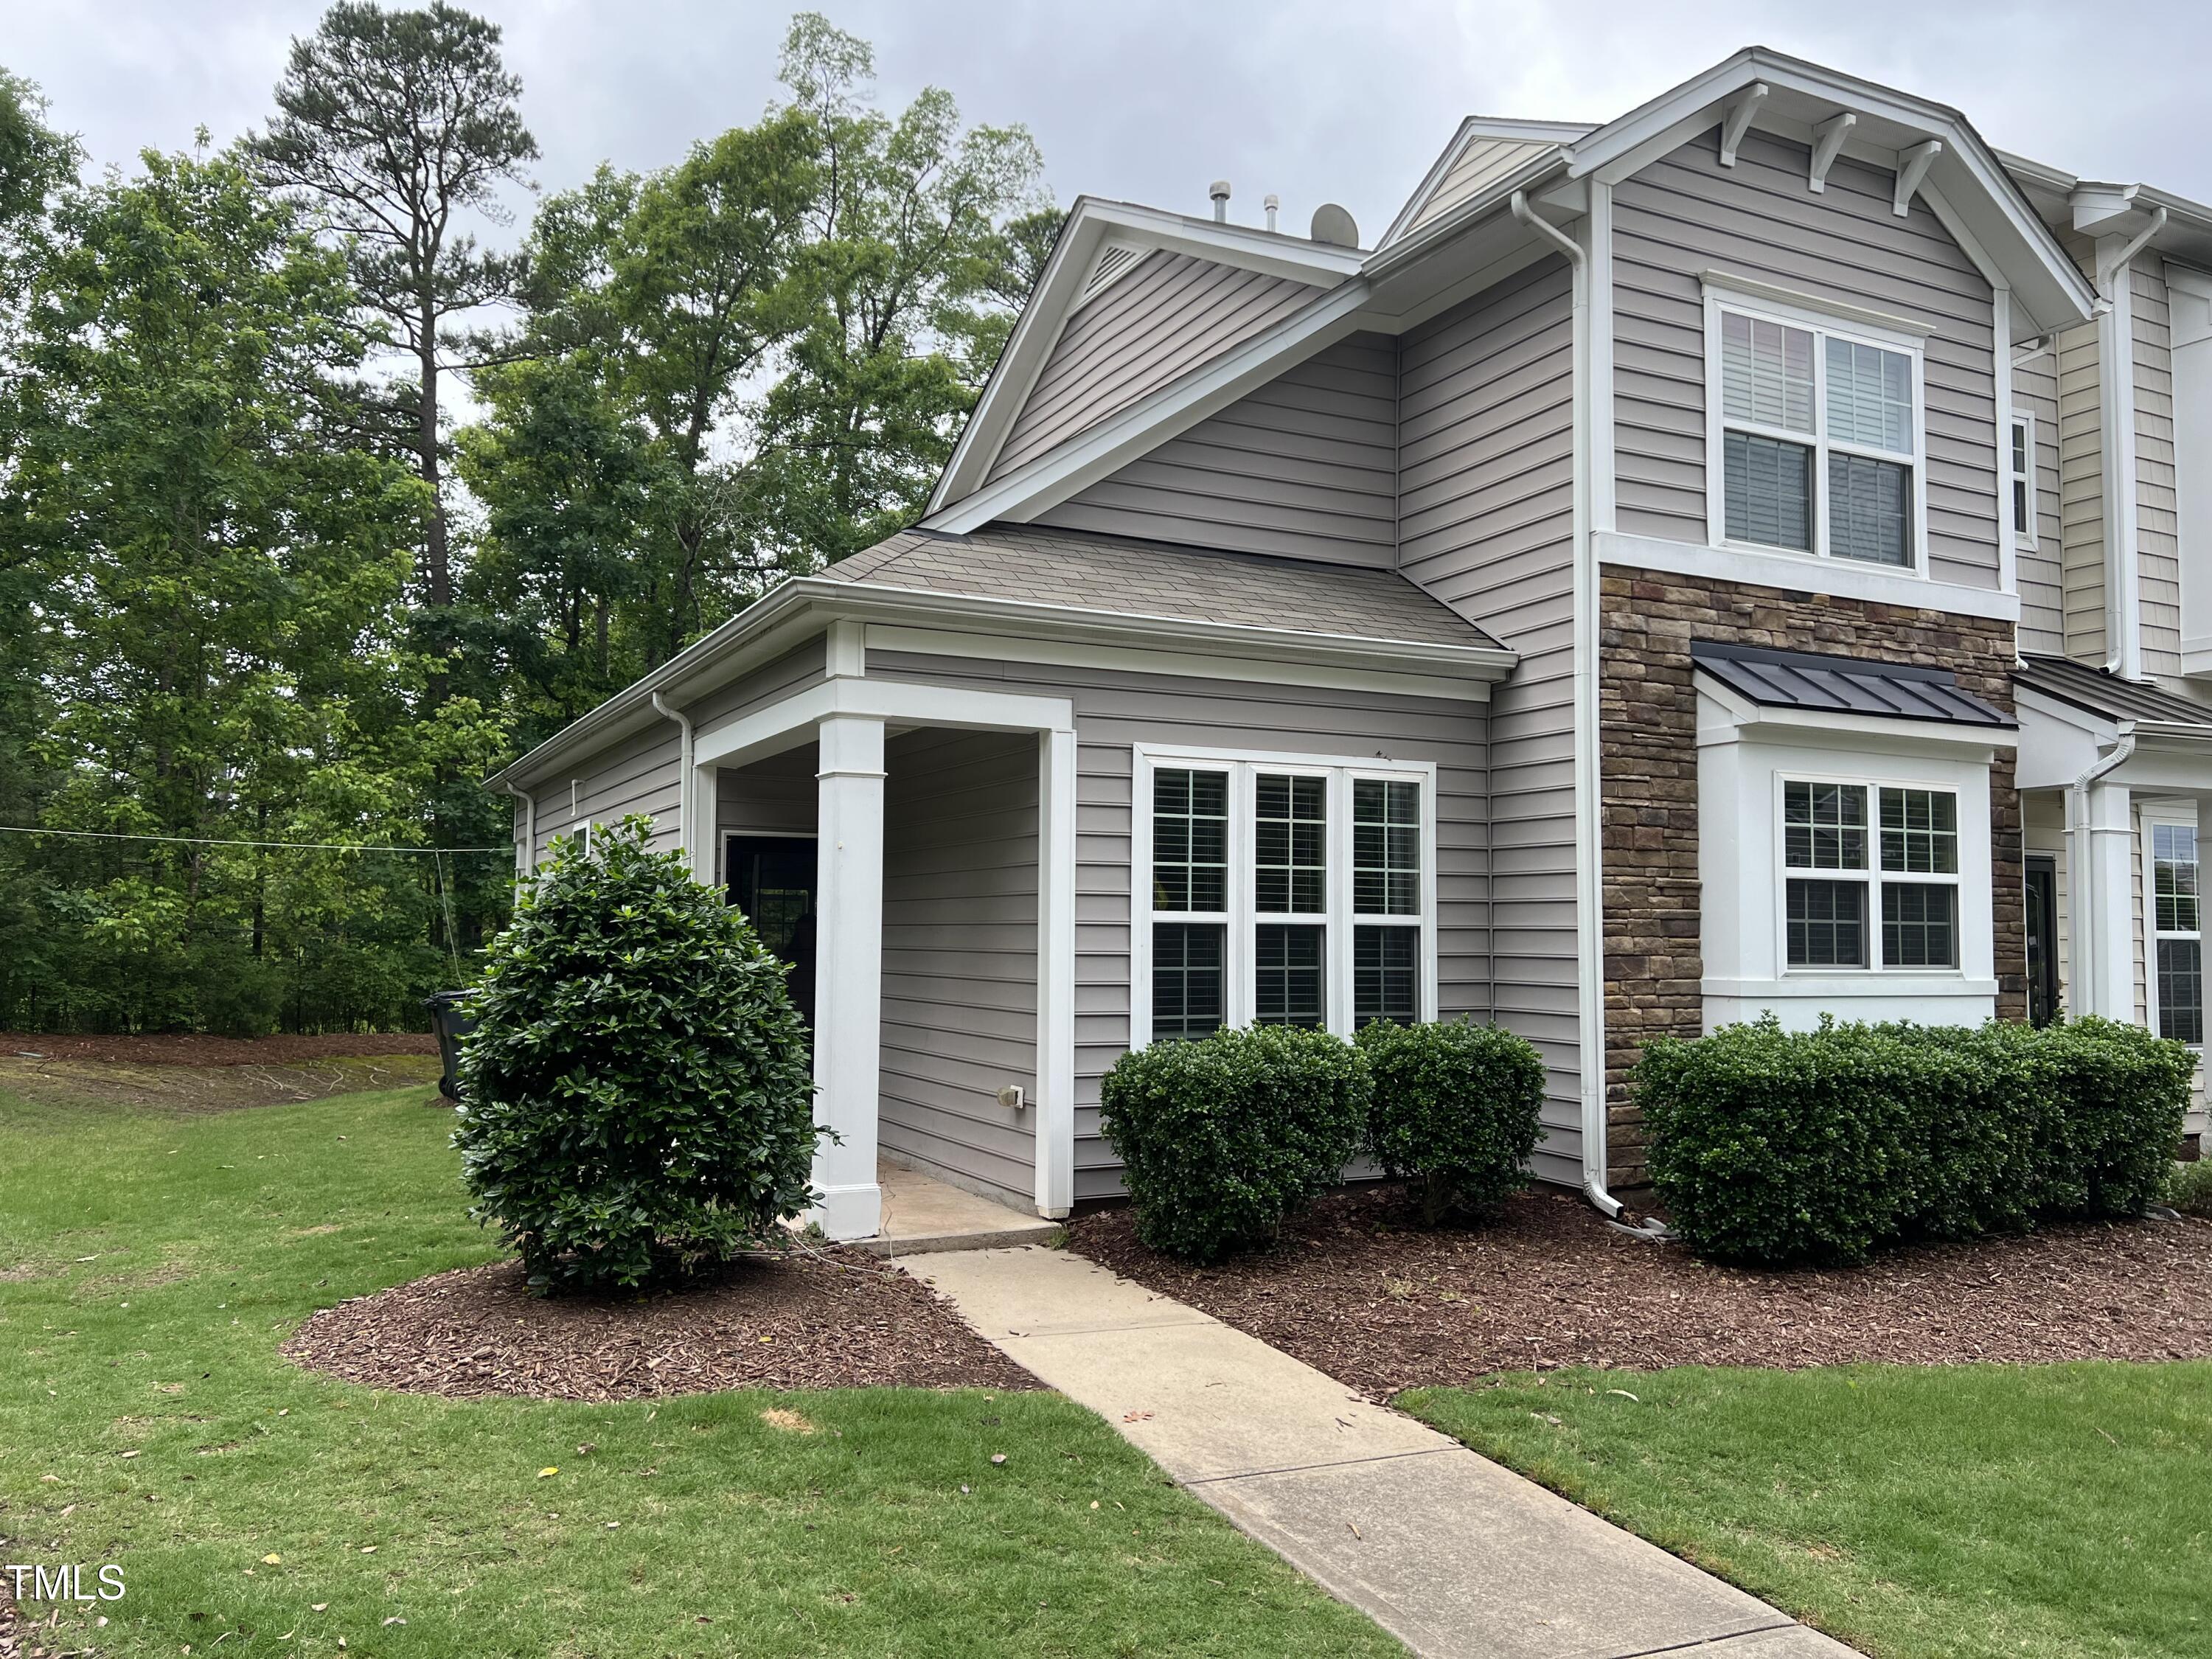
[[[2201,1040],[2212,210],[1754,49],[1314,232],[1077,201],[916,529],[493,779],[812,951],[834,1237],[1223,1022],[1495,1018],[1606,1210],[1657,1033]]]

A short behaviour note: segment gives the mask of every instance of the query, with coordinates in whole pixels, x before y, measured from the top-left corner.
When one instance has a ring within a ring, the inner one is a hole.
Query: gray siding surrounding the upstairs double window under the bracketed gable
[[[1803,144],[1750,133],[1736,166],[1705,133],[1613,192],[1615,469],[1619,526],[1708,540],[1705,321],[1699,274],[1730,272],[1814,301],[1874,305],[1927,336],[1929,573],[1995,588],[1997,398],[1991,290],[1924,201],[1891,212],[1891,175],[1838,159],[1805,186]]]

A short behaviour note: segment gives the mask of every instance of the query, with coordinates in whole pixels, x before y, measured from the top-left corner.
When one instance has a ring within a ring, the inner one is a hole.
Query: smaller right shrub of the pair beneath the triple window
[[[1425,1223],[1528,1186],[1528,1155],[1544,1133],[1544,1060],[1533,1042],[1469,1020],[1376,1022],[1354,1042],[1374,1073],[1367,1155],[1418,1186]]]

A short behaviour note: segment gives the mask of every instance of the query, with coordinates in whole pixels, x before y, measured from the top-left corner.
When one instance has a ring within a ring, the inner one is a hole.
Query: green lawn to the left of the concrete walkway
[[[294,1369],[314,1307],[491,1256],[422,1102],[0,1097],[0,1562],[128,1584],[62,1646],[1400,1652],[1060,1396],[449,1402]]]

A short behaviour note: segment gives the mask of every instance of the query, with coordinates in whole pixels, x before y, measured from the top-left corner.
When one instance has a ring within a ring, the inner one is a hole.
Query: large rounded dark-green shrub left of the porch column
[[[462,1175],[540,1290],[726,1261],[810,1201],[814,1079],[783,964],[650,818],[553,843],[465,1011]]]

